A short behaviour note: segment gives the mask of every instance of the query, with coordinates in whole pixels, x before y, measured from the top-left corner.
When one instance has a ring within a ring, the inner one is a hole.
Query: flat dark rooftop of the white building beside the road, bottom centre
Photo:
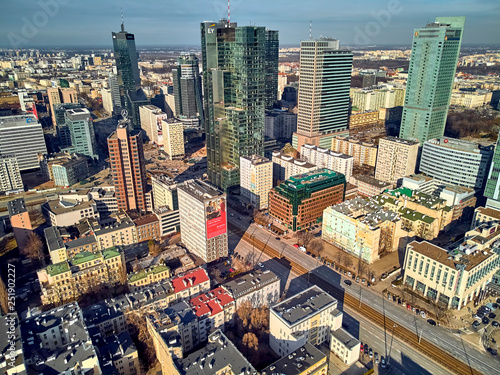
[[[316,285],[271,307],[286,324],[293,326],[328,307],[336,307],[337,300]]]

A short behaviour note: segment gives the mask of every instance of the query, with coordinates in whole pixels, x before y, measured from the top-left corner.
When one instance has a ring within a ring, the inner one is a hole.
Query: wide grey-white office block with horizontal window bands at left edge
[[[34,115],[0,117],[0,155],[15,155],[19,170],[38,169],[38,154],[46,154],[42,125]]]

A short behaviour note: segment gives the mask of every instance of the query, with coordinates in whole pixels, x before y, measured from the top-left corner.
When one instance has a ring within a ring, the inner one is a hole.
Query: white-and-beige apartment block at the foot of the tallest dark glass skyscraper
[[[240,194],[258,210],[267,208],[273,188],[273,162],[259,155],[240,156]]]

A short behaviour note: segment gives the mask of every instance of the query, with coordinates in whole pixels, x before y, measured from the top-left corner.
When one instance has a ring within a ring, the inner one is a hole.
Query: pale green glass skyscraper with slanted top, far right
[[[465,17],[437,17],[415,29],[400,138],[444,135],[464,26]]]

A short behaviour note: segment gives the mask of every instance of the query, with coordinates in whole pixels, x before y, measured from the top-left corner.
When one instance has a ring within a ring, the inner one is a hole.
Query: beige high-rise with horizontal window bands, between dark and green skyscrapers
[[[300,44],[299,113],[293,147],[304,143],[329,148],[349,127],[352,52],[322,38]]]

